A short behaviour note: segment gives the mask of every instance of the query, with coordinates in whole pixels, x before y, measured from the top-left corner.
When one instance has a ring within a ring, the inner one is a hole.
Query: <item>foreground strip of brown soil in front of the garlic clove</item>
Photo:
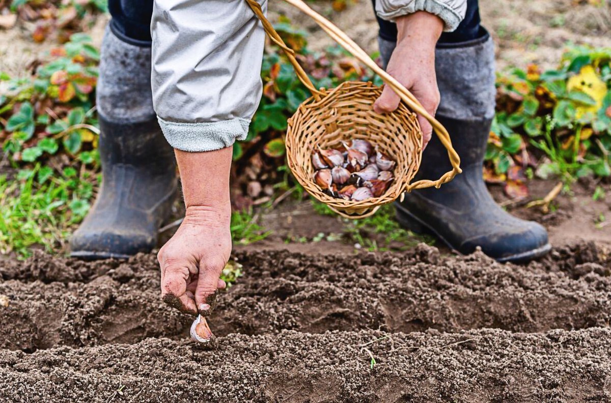
[[[607,402],[610,355],[603,328],[147,339],[0,351],[0,401]]]

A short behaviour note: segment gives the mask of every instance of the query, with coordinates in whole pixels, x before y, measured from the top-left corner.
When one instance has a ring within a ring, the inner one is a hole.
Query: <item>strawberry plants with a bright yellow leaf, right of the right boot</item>
[[[556,70],[516,68],[497,79],[485,177],[525,196],[524,180],[611,175],[611,48],[573,46]]]

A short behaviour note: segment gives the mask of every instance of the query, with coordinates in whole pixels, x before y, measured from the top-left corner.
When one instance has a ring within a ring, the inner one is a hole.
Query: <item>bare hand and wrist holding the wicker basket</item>
[[[397,47],[386,71],[420,101],[426,112],[435,115],[439,106],[439,88],[435,75],[435,45],[443,30],[443,21],[427,12],[416,12],[397,19]],[[377,113],[392,112],[401,99],[389,86],[373,104]],[[431,140],[433,127],[418,115],[423,146]]]

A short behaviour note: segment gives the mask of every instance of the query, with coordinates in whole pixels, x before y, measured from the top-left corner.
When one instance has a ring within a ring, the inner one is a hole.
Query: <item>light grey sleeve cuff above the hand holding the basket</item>
[[[451,32],[463,21],[467,0],[376,0],[376,14],[382,20],[394,21],[398,17],[426,11],[444,21],[444,30]]]

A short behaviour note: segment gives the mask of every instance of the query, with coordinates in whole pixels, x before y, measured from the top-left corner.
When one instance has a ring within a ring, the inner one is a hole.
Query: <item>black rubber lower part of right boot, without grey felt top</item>
[[[500,262],[540,257],[551,246],[537,223],[515,218],[494,202],[482,179],[489,120],[458,120],[437,115],[461,157],[463,173],[441,188],[414,190],[397,203],[397,219],[416,233],[436,235],[450,248],[470,254],[477,246]],[[414,180],[437,179],[451,169],[448,155],[435,136],[422,156]]]

